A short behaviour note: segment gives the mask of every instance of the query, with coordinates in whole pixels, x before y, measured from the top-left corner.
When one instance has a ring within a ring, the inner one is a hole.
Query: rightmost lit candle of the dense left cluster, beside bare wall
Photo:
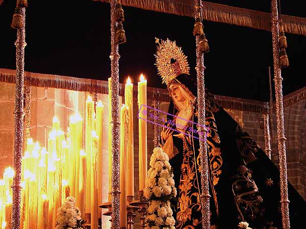
[[[103,183],[103,148],[102,148],[102,143],[103,143],[103,104],[101,101],[98,101],[97,103],[97,108],[96,108],[96,133],[98,136],[98,204],[102,203],[102,183]],[[98,208],[98,216],[101,218],[101,208]]]

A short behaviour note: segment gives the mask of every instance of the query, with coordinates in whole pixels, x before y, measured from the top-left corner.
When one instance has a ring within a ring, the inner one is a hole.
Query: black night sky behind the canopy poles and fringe
[[[270,1],[209,1],[270,12]],[[0,6],[0,68],[15,69],[16,30],[10,27],[16,1]],[[195,76],[194,19],[124,7],[127,42],[119,46],[119,81],[141,73],[149,87],[165,88],[154,65],[155,37],[175,40]],[[281,1],[281,13],[306,17],[299,1]],[[214,94],[269,100],[273,78],[271,33],[204,21],[210,52],[204,58],[205,85]],[[286,34],[290,66],[282,70],[283,93],[306,86],[306,37]],[[110,5],[83,1],[29,1],[26,10],[25,71],[106,80],[110,77]],[[274,82],[272,91],[274,95]],[[274,96],[273,96],[274,97]]]

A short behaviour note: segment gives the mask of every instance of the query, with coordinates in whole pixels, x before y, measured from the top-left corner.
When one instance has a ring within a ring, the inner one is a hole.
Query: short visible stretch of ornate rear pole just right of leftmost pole
[[[24,86],[23,151],[27,151],[27,141],[31,136],[31,88],[31,85]]]

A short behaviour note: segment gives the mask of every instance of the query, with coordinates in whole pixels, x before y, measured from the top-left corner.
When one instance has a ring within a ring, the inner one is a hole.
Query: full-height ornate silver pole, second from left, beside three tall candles
[[[114,18],[116,0],[111,0],[111,77],[112,77],[112,229],[120,228],[120,157],[119,157],[119,58],[115,43],[117,22]]]

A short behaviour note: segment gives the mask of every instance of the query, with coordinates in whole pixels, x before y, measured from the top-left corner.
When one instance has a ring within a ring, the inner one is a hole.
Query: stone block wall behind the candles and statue
[[[12,165],[13,160],[13,139],[14,139],[14,84],[0,82],[0,177],[2,177],[4,168]],[[52,127],[53,117],[60,120],[60,127],[66,132],[69,117],[74,112],[79,112],[81,117],[85,117],[85,101],[88,93],[74,92],[62,89],[37,88],[32,87],[31,98],[31,137],[38,141],[41,146],[45,146],[48,133]],[[104,137],[103,137],[103,165],[104,181],[106,189],[108,188],[108,95],[98,94],[98,99],[104,105]],[[124,103],[124,97],[120,97],[120,107]],[[152,106],[152,101],[147,101],[148,106]],[[160,109],[167,112],[168,102],[161,102]],[[138,104],[137,97],[134,98],[134,159],[135,159],[135,197],[138,198],[139,171],[138,171]],[[226,109],[226,111],[250,134],[254,140],[265,149],[264,130],[260,128],[261,113]],[[287,163],[288,178],[298,192],[306,198],[305,179],[306,179],[306,111],[305,101],[285,108],[285,135],[287,137]],[[84,123],[84,122],[83,122]],[[84,126],[85,129],[85,126]],[[275,113],[270,116],[271,130],[271,149],[272,160],[278,164],[277,152],[277,134]],[[154,148],[154,127],[147,123],[147,143],[148,143],[148,166],[149,158]],[[83,142],[84,145],[85,142]],[[108,193],[104,193],[101,202],[108,201]],[[106,219],[108,219],[106,217]],[[104,220],[105,222],[107,220]],[[136,225],[139,221],[136,221]],[[104,228],[108,224],[103,225]]]

